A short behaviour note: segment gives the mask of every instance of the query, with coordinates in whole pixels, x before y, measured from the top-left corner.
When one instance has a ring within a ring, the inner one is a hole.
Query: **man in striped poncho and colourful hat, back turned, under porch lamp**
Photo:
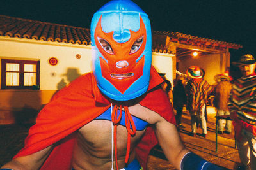
[[[189,67],[187,74],[191,78],[186,85],[188,96],[187,109],[191,115],[191,134],[192,136],[196,136],[196,128],[198,120],[200,120],[200,125],[203,129],[202,136],[206,137],[205,103],[207,96],[212,91],[212,87],[204,80],[204,70],[200,69],[200,67]]]

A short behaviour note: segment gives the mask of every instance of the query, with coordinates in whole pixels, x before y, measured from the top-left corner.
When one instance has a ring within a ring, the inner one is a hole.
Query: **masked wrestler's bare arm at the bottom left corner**
[[[31,155],[17,157],[16,159],[13,159],[12,161],[8,162],[1,168],[8,168],[13,170],[39,169],[44,163],[45,159],[51,153],[51,150],[52,145]]]

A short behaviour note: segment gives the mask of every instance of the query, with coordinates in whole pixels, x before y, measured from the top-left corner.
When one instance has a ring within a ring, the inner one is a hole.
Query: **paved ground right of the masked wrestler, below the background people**
[[[215,118],[214,114],[208,115],[207,122],[207,137],[204,138],[200,136],[202,129],[198,129],[196,137],[190,136],[190,117],[188,113],[182,116],[182,122],[185,126],[184,129],[180,131],[180,137],[184,141],[184,145],[200,155],[204,159],[223,167],[224,169],[237,169],[240,164],[239,155],[237,149],[234,148],[234,131],[232,134],[218,134],[218,150],[215,148]],[[164,157],[161,154],[161,150],[155,148],[152,150],[152,154],[149,157],[148,169],[150,170],[170,170],[175,169],[168,161],[161,159],[159,157]]]

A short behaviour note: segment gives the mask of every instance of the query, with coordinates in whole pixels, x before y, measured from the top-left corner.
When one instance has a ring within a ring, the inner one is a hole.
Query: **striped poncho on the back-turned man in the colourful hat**
[[[188,95],[188,104],[187,108],[191,112],[200,110],[209,95],[212,91],[211,85],[202,78],[202,80],[196,82],[191,79],[186,85],[186,93]]]

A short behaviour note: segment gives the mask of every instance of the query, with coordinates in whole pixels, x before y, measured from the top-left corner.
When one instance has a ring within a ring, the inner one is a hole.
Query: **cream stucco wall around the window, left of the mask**
[[[1,59],[40,60],[40,90],[58,90],[61,83],[63,87],[63,83],[91,71],[91,46],[3,36],[0,46]],[[56,66],[49,64],[50,57],[58,59]]]

